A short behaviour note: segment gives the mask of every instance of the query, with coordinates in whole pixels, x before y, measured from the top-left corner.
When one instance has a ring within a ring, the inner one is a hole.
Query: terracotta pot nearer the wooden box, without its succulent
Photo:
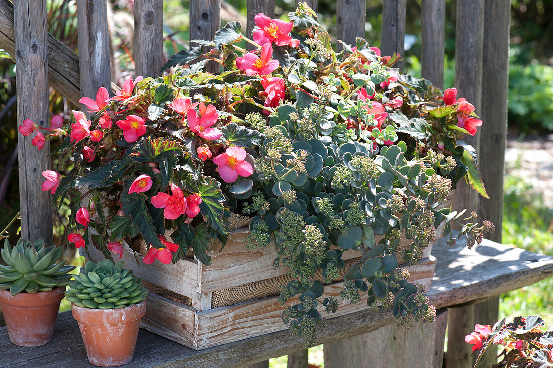
[[[146,313],[146,300],[121,309],[81,308],[71,304],[71,310],[79,322],[91,364],[117,367],[133,360],[140,318]]]

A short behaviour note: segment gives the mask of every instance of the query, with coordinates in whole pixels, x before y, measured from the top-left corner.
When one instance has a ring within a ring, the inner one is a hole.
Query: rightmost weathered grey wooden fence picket
[[[503,176],[505,173],[505,139],[507,138],[507,95],[509,74],[509,0],[484,2],[482,118],[480,168],[489,199],[480,199],[480,215],[495,224],[495,232],[487,239],[500,243],[503,222]],[[499,299],[491,298],[474,305],[474,319],[479,324],[493,325],[498,320]],[[495,362],[496,349],[488,349],[482,365]]]

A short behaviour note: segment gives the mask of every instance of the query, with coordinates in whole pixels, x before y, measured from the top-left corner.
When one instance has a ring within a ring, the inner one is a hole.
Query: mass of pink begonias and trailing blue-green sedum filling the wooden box
[[[291,22],[258,14],[253,40],[230,22],[164,67],[181,68],[129,79],[111,98],[101,88],[81,100],[90,119],[74,111],[70,125],[56,122],[53,134],[69,132],[57,151],[75,164],[64,178],[47,173],[45,188],[55,204],[70,199],[69,241],[108,258],[127,243],[147,264],[194,255],[208,265],[211,240],[224,245],[228,219],[248,215],[247,246],[275,246],[275,265],[293,277],[281,301],[300,302],[282,317],[307,341],[324,322],[317,305],[337,307],[320,299],[324,283],[344,272],[342,298],[363,292],[400,322],[433,320],[398,266],[421,260],[440,224],[447,235],[463,222],[469,245],[492,230],[441,205],[460,180],[487,195],[462,141],[482,121],[455,89],[399,74],[397,55],[363,39],[337,53],[313,16],[304,4]],[[221,73],[205,71],[209,60]],[[32,121],[20,132],[41,134]],[[343,269],[346,252],[361,257]]]

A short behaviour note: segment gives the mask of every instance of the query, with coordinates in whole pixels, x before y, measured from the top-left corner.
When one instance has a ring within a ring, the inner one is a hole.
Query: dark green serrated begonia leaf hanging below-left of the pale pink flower
[[[225,235],[226,231],[223,226],[225,196],[220,189],[221,184],[213,178],[207,177],[206,179],[207,183],[200,183],[198,186],[198,195],[202,199],[199,204],[202,217],[219,234]]]

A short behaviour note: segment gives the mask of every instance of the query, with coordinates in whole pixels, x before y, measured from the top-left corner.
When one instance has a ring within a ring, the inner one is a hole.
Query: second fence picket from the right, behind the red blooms
[[[484,0],[457,1],[457,26],[455,45],[455,86],[460,97],[470,101],[476,112],[481,109],[482,94],[482,40],[484,33]],[[479,149],[479,134],[468,137],[476,152]],[[478,155],[480,157],[480,155]],[[466,208],[467,212],[478,211],[478,194],[469,189],[465,182],[459,182],[453,198],[453,208]],[[462,344],[465,335],[474,329],[474,306],[450,308],[447,367],[472,367],[471,348]]]

